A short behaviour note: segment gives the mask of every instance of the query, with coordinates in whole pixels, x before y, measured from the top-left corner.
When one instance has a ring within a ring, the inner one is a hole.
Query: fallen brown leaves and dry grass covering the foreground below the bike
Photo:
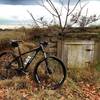
[[[2,85],[4,82],[6,82],[5,86]],[[9,87],[7,82],[13,84]],[[57,90],[38,87],[25,77],[12,82],[11,80],[0,81],[0,100],[100,100],[99,87],[84,82],[77,84],[70,78],[67,78],[62,87]],[[16,89],[18,84],[23,86],[23,82],[25,82],[24,88]]]

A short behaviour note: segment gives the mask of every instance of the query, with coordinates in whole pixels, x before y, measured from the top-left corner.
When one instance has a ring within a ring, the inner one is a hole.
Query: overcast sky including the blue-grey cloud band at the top
[[[31,17],[27,10],[32,12],[35,18],[45,16],[49,19],[50,14],[41,6],[39,2],[41,0],[0,0],[0,25],[7,24],[27,24],[31,22]],[[59,7],[59,0],[52,0],[55,2],[57,7]],[[70,5],[73,5],[78,0],[70,0]],[[83,2],[88,2],[89,4],[86,8],[89,9],[89,14],[100,14],[100,0],[81,0]],[[64,0],[67,4],[67,0]]]

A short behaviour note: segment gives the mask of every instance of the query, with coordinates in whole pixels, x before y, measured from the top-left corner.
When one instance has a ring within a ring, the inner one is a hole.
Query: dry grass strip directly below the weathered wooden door
[[[85,81],[90,83],[96,83],[100,80],[100,71],[94,68],[69,68],[68,76],[75,82]]]

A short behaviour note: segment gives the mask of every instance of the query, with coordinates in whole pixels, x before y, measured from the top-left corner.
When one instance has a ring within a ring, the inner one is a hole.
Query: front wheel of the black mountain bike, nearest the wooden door
[[[38,62],[34,69],[34,79],[41,86],[56,89],[66,78],[66,68],[56,57],[47,57]]]

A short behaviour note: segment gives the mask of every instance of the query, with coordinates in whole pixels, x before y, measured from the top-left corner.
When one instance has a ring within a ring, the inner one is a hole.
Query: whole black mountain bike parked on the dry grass
[[[36,83],[46,86],[51,89],[60,87],[66,78],[66,68],[63,62],[54,56],[48,56],[45,52],[45,48],[48,42],[43,41],[39,43],[39,46],[29,50],[25,53],[21,53],[19,43],[22,41],[11,40],[10,45],[18,48],[18,54],[13,51],[3,51],[0,53],[0,77],[2,79],[12,78],[13,74],[25,74],[29,65],[35,59],[36,55],[41,52],[43,58],[36,64],[32,71],[32,79]],[[28,53],[32,53],[31,56],[22,59],[22,56]]]

